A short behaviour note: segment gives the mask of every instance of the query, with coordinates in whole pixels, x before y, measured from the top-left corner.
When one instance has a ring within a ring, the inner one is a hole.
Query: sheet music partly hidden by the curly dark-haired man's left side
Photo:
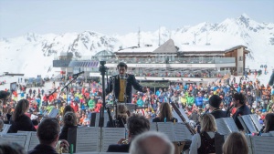
[[[107,151],[111,144],[125,138],[125,128],[102,128],[101,151]]]

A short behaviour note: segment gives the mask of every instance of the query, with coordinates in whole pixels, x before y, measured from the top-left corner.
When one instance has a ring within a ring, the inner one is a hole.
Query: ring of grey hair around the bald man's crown
[[[164,151],[164,154],[174,153],[174,144],[165,134],[157,131],[147,131],[138,135],[135,139],[132,140],[130,154],[149,154],[147,151],[147,147],[149,147],[149,145],[143,144],[143,142],[149,138],[157,138],[165,143],[166,150]]]

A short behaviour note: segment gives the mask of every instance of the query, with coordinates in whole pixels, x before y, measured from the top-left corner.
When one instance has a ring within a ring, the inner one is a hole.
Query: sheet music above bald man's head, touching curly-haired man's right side
[[[172,122],[157,122],[158,131],[163,132],[171,141],[175,140],[173,125],[174,123]]]

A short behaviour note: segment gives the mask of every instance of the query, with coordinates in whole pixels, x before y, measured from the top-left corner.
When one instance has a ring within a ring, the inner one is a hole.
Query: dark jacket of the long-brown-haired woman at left
[[[11,120],[11,126],[7,133],[16,133],[18,130],[21,131],[37,131],[32,121],[25,114],[20,116],[16,121]]]

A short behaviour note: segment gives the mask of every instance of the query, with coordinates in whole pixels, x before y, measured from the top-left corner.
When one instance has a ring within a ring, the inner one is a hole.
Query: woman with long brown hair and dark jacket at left
[[[37,131],[31,119],[26,116],[26,111],[28,111],[28,108],[29,103],[26,99],[21,99],[18,101],[16,109],[12,116],[12,125],[7,131],[8,133],[16,133],[18,130]]]

